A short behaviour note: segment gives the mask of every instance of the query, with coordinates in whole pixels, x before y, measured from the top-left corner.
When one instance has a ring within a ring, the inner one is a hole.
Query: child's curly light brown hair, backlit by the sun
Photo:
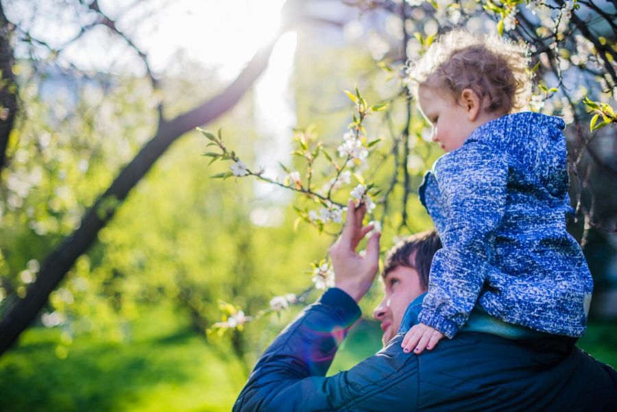
[[[454,30],[439,37],[416,64],[410,64],[409,81],[418,87],[444,88],[458,100],[465,88],[480,99],[485,110],[508,114],[528,106],[531,77],[527,47],[496,35]]]

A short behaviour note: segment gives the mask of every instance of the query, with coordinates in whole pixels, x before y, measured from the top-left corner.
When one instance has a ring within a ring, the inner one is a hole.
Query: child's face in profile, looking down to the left
[[[418,103],[424,118],[433,125],[433,141],[446,152],[461,147],[477,127],[468,108],[455,101],[447,90],[420,86]]]

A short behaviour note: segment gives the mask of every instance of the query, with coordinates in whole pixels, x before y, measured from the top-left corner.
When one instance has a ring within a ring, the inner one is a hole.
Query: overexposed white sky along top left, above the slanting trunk
[[[33,36],[52,47],[64,44],[81,25],[89,23],[84,14],[76,16],[74,8],[60,5],[60,1],[7,3],[5,11],[12,21],[25,23],[22,25]],[[283,3],[285,0],[99,0],[99,7],[147,53],[155,72],[167,69],[180,52],[190,60],[219,68],[221,77],[228,80],[276,33]],[[40,53],[44,57],[45,49]],[[62,56],[80,69],[139,71],[134,52],[118,38],[110,39],[104,27],[90,30]]]

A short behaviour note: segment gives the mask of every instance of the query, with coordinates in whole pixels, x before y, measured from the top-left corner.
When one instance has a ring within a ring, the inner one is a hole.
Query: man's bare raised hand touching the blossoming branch
[[[335,285],[346,291],[359,302],[370,289],[379,267],[380,232],[374,232],[366,245],[366,253],[360,256],[356,247],[365,235],[373,230],[373,225],[362,226],[366,206],[358,208],[350,200],[347,204],[347,217],[343,233],[330,247],[332,267],[335,271]]]

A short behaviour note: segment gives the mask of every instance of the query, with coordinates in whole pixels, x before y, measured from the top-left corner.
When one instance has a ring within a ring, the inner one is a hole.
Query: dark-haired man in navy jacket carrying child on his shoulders
[[[402,351],[420,312],[435,235],[412,239],[385,265],[385,298],[374,316],[385,347],[352,369],[325,377],[359,302],[378,269],[379,233],[364,206],[348,205],[346,226],[330,249],[335,284],[275,339],[256,364],[234,411],[614,411],[617,373],[577,348],[547,339],[512,341],[481,332],[420,355]],[[407,265],[405,265],[407,263]],[[424,275],[424,276],[422,276]]]

